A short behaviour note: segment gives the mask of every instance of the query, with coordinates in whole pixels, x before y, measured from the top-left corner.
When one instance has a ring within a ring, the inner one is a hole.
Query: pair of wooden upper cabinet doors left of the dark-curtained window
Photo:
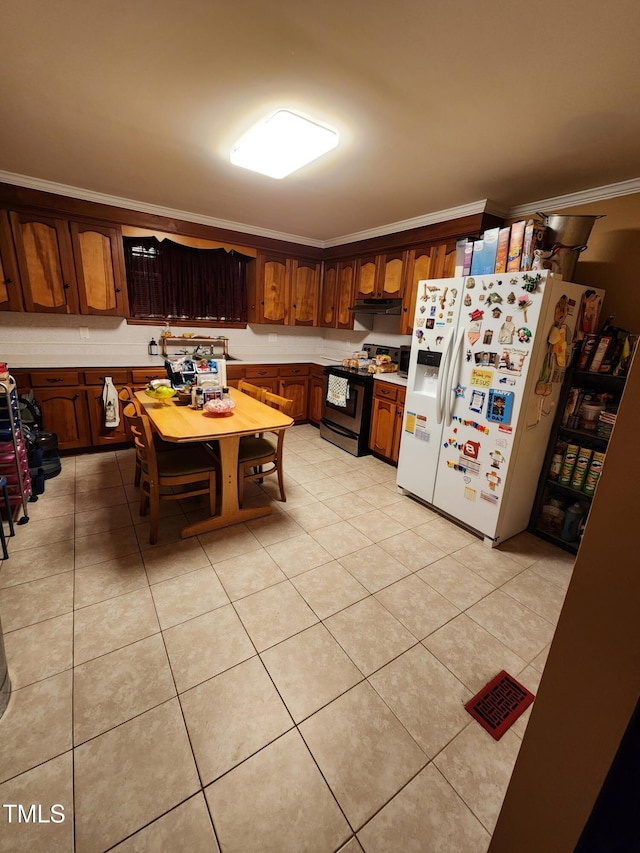
[[[9,214],[27,311],[128,313],[119,228]]]

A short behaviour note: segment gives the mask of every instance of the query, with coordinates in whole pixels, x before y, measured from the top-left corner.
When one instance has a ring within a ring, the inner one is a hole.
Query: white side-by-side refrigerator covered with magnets
[[[603,296],[547,270],[419,282],[398,486],[488,545],[525,530],[564,373]]]

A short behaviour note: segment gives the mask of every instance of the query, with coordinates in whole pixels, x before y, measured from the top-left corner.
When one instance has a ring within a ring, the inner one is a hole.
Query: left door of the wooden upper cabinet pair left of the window
[[[27,311],[78,313],[71,235],[66,220],[10,213]]]

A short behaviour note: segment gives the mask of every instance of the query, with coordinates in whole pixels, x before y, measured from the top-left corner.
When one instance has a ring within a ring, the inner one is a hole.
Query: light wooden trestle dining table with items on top
[[[164,441],[185,444],[190,441],[217,441],[220,447],[220,513],[202,521],[188,524],[181,531],[182,538],[218,530],[231,524],[239,524],[271,514],[271,506],[241,507],[238,496],[238,449],[243,435],[255,435],[275,429],[287,429],[293,418],[260,403],[236,388],[229,394],[236,404],[229,415],[209,415],[191,406],[178,405],[169,399],[158,403],[144,391],[136,397],[145,414]]]

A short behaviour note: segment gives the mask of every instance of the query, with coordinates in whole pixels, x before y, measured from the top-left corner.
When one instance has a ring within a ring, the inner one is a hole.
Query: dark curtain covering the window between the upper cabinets
[[[247,322],[247,263],[225,249],[123,238],[134,317]]]

